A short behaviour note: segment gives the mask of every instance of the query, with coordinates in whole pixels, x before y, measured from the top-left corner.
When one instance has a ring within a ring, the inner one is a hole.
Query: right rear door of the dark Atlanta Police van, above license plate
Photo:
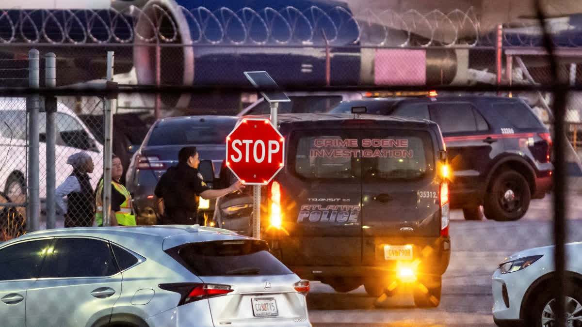
[[[438,151],[426,129],[390,127],[363,134],[363,264],[410,260],[413,237],[440,234]]]

